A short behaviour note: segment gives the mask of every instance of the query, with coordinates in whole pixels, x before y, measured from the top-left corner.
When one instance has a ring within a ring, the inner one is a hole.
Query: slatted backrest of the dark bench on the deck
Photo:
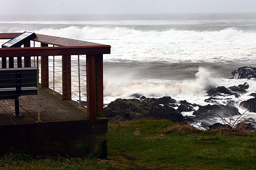
[[[2,68],[0,69],[0,88],[37,86],[37,68]]]

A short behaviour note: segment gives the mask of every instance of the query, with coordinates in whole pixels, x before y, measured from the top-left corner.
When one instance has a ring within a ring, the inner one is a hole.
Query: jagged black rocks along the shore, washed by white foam
[[[176,101],[171,96],[162,98],[147,98],[142,94],[134,94],[134,99],[116,99],[104,107],[104,116],[110,121],[113,120],[132,120],[139,118],[168,119],[173,122],[196,125],[205,129],[220,127],[238,126],[240,122],[248,129],[255,130],[256,121],[253,118],[246,118],[243,113],[234,105],[234,99],[240,98],[250,85],[246,79],[256,80],[255,67],[240,67],[232,71],[232,79],[245,79],[244,84],[238,86],[219,86],[210,87],[206,90],[209,96],[205,106],[188,103],[187,101]],[[256,81],[255,81],[256,82]],[[256,113],[256,91],[250,94],[251,99],[242,101],[240,107],[244,107],[249,112]],[[218,104],[218,101],[225,101],[226,105]],[[183,113],[190,112],[190,116]],[[185,116],[184,116],[185,115]],[[237,119],[231,118],[236,116]],[[212,123],[212,119],[219,118],[223,123]],[[230,119],[228,121],[227,119]],[[232,122],[232,123],[231,123]]]

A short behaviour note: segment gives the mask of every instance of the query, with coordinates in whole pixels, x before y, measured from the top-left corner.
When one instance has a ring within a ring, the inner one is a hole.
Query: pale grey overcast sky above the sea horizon
[[[0,5],[0,15],[208,12],[256,12],[256,0],[7,0]]]

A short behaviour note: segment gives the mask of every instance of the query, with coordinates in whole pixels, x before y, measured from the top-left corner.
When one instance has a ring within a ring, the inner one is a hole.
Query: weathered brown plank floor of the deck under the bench
[[[86,108],[74,101],[62,101],[60,94],[50,89],[39,89],[39,110],[42,123],[86,120]],[[20,96],[19,108],[22,116],[15,117],[13,100],[0,100],[0,126],[36,124],[38,120],[37,95]]]

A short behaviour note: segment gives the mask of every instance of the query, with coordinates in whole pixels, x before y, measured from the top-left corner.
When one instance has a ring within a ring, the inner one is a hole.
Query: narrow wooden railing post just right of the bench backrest
[[[46,43],[41,43],[41,46],[48,46]],[[41,56],[41,88],[49,87],[49,60],[48,56]]]

